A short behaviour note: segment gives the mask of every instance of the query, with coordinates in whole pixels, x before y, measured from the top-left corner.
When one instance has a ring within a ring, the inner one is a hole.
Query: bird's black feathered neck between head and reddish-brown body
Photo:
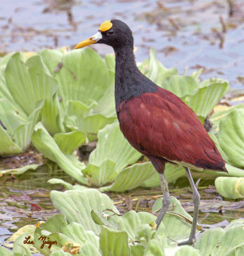
[[[155,84],[137,68],[133,46],[114,48],[115,50],[115,106],[124,100],[139,97],[144,92],[154,92]]]

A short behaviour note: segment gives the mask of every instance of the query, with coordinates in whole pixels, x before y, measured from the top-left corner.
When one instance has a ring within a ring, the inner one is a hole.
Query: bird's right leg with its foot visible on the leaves
[[[192,179],[189,168],[185,168],[185,170],[186,170],[186,174],[190,181],[190,186],[191,186],[192,192],[193,192],[194,216],[193,216],[193,222],[192,222],[189,240],[181,242],[178,245],[193,245],[194,242],[196,241],[195,235],[196,235],[196,227],[197,227],[197,223],[198,223],[198,210],[199,210],[199,205],[200,205],[200,195],[198,193],[198,189],[196,188],[196,186],[194,184],[194,180]]]

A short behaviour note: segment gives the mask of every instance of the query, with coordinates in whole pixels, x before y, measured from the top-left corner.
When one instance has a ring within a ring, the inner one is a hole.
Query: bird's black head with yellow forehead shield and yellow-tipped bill
[[[130,46],[133,48],[133,34],[129,26],[121,20],[107,20],[103,22],[91,38],[80,42],[75,49],[89,46],[93,43],[103,43],[114,49]]]

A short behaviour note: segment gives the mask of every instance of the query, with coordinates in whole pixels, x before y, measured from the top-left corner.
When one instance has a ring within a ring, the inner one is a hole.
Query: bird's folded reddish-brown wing
[[[220,170],[224,160],[194,111],[168,90],[120,104],[120,129],[129,143],[147,156]]]

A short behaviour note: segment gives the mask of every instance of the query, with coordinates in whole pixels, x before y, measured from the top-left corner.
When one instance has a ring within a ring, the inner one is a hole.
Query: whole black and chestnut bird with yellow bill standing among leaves
[[[200,195],[190,169],[228,172],[225,161],[194,111],[137,68],[133,33],[127,24],[121,20],[107,20],[94,36],[78,43],[75,49],[94,43],[106,44],[115,51],[115,111],[120,130],[159,173],[163,205],[155,221],[157,228],[170,205],[165,164],[185,168],[193,192],[194,214],[189,239],[178,245],[193,245]]]

